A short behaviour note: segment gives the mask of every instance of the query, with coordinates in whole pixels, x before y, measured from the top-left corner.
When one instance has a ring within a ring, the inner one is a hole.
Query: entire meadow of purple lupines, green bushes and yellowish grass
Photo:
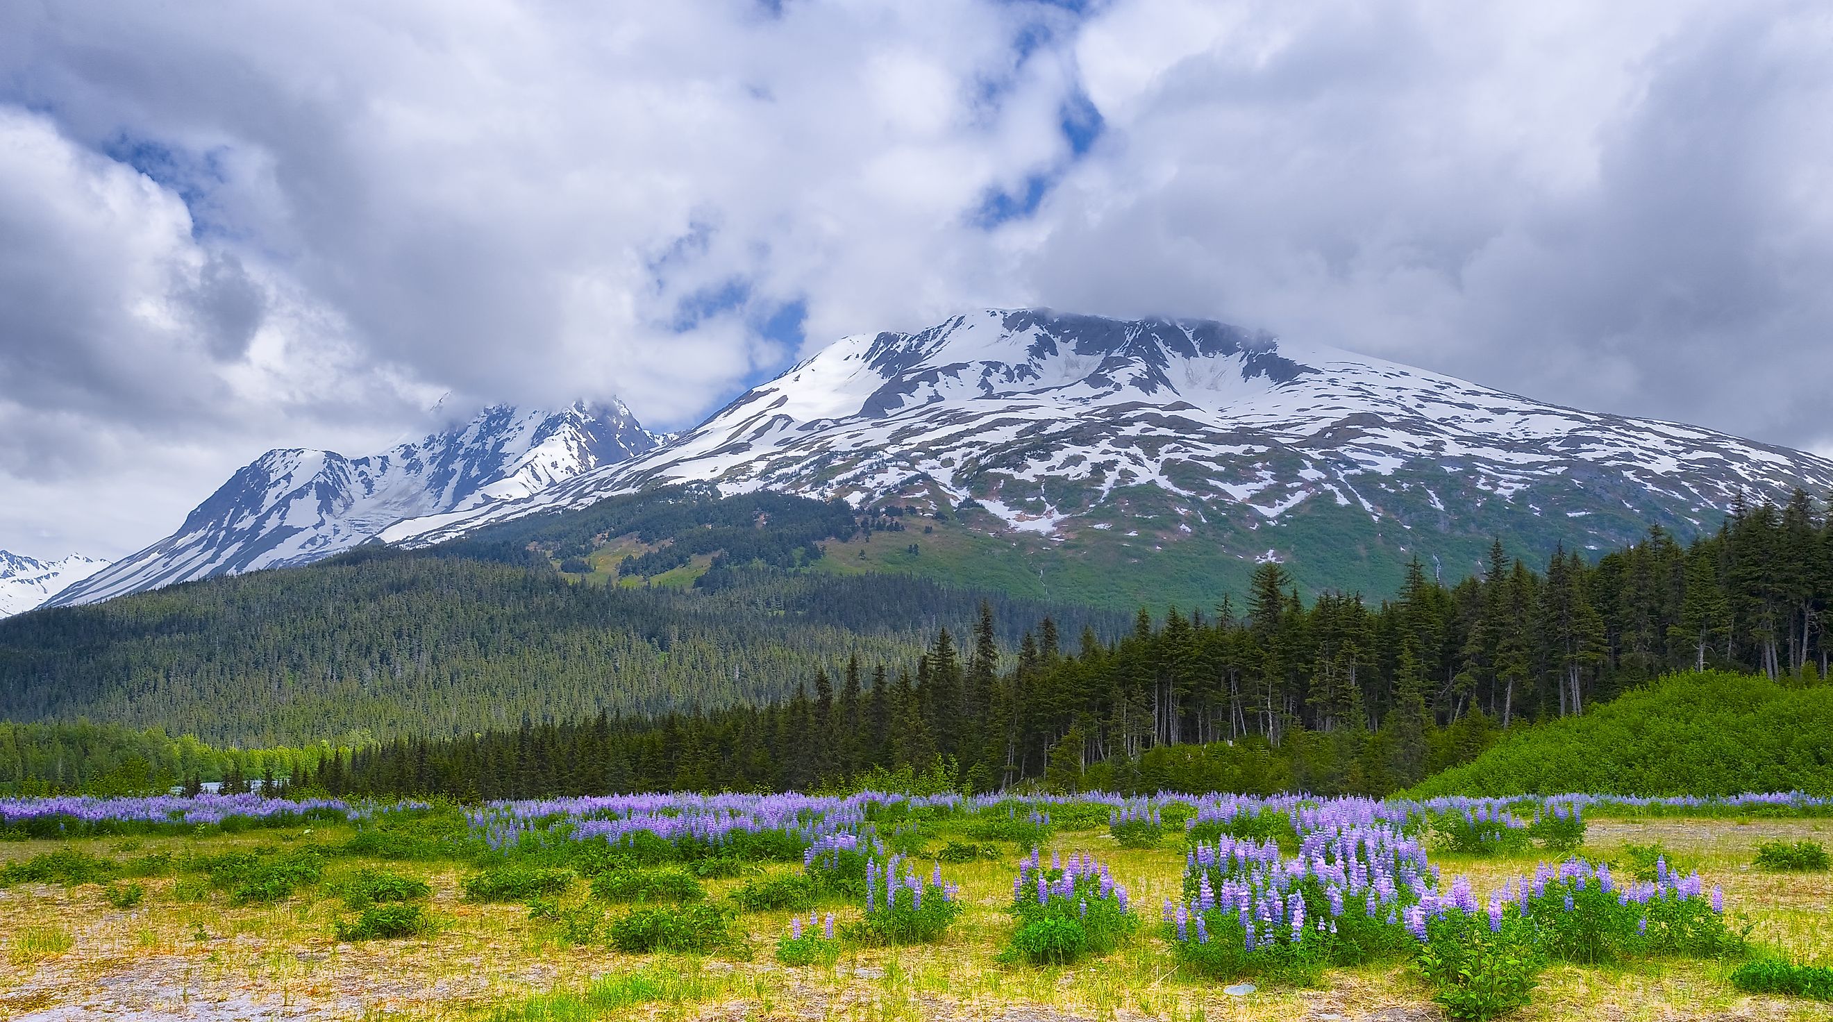
[[[0,800],[0,1018],[1829,1018],[1833,800]]]

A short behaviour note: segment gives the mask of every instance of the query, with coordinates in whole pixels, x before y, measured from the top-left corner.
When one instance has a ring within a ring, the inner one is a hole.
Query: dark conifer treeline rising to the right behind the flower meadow
[[[1162,623],[1140,612],[1129,636],[1083,632],[1072,650],[1043,619],[1001,658],[982,608],[966,650],[944,630],[915,663],[869,678],[854,663],[838,690],[816,672],[812,696],[803,685],[772,707],[403,742],[350,764],[345,782],[486,797],[541,789],[528,778],[555,791],[807,789],[946,762],[975,789],[1125,789],[1188,788],[1168,780],[1184,764],[1226,778],[1221,789],[1378,795],[1477,755],[1499,729],[1582,714],[1663,672],[1818,680],[1829,599],[1833,531],[1798,495],[1740,507],[1688,546],[1652,529],[1595,566],[1558,551],[1534,571],[1496,544],[1483,577],[1444,586],[1415,562],[1377,606],[1353,593],[1307,606],[1268,562],[1241,608]]]

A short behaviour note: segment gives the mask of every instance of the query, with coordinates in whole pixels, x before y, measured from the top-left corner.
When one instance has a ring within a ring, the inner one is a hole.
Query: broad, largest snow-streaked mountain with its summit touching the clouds
[[[689,480],[971,498],[1037,538],[1195,531],[1283,557],[1303,522],[1320,524],[1314,544],[1334,529],[1400,549],[1426,533],[1547,549],[1631,542],[1650,522],[1688,535],[1740,495],[1826,493],[1833,462],[1219,322],[993,310],[845,337],[647,454],[383,538],[436,542]]]

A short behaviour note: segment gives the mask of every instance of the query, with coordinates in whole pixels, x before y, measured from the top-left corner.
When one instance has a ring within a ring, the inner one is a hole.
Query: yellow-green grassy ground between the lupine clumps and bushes
[[[255,846],[330,848],[346,824],[317,824],[213,837],[86,839],[70,848],[112,859],[170,852],[218,853]],[[949,824],[931,846],[951,837]],[[1763,951],[1833,965],[1833,874],[1767,874],[1752,868],[1762,841],[1833,839],[1828,819],[1595,819],[1586,855],[1620,857],[1626,843],[1661,843],[1707,885],[1723,885],[1734,923],[1749,921]],[[48,841],[0,843],[0,864],[64,848]],[[634,956],[572,947],[522,905],[460,897],[475,868],[451,863],[378,863],[334,857],[319,885],[273,905],[229,905],[194,879],[137,881],[145,899],[110,905],[104,885],[24,883],[0,888],[0,1018],[24,1022],[90,1017],[136,1022],[203,1018],[1439,1018],[1430,989],[1404,963],[1333,969],[1320,989],[1261,985],[1223,993],[1175,967],[1151,925],[1182,877],[1182,846],[1122,850],[1103,830],[1067,832],[1052,846],[1091,852],[1133,890],[1146,919],[1118,951],[1070,967],[1003,963],[1012,932],[1006,905],[1021,852],[944,866],[959,881],[966,914],[937,945],[847,947],[830,965],[785,967],[774,958],[790,912],[742,914],[746,945],[715,956]],[[1487,890],[1531,872],[1538,855],[1435,853],[1446,883],[1455,874]],[[348,919],[332,892],[363,866],[425,879],[436,929],[423,938],[339,943]],[[719,899],[746,879],[797,874],[792,864],[706,881]],[[117,881],[119,886],[119,881]],[[574,883],[563,903],[583,903]],[[858,908],[834,901],[841,918]],[[1745,996],[1727,984],[1732,963],[1653,960],[1624,967],[1553,965],[1516,1018],[1828,1018],[1817,1002]]]

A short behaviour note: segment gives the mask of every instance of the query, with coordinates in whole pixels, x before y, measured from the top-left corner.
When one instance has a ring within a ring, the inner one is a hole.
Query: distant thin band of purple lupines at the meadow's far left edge
[[[145,799],[0,799],[0,830],[29,837],[191,830],[224,824],[288,826],[302,821],[363,819],[372,806],[339,799],[264,799],[260,795],[154,795]]]

